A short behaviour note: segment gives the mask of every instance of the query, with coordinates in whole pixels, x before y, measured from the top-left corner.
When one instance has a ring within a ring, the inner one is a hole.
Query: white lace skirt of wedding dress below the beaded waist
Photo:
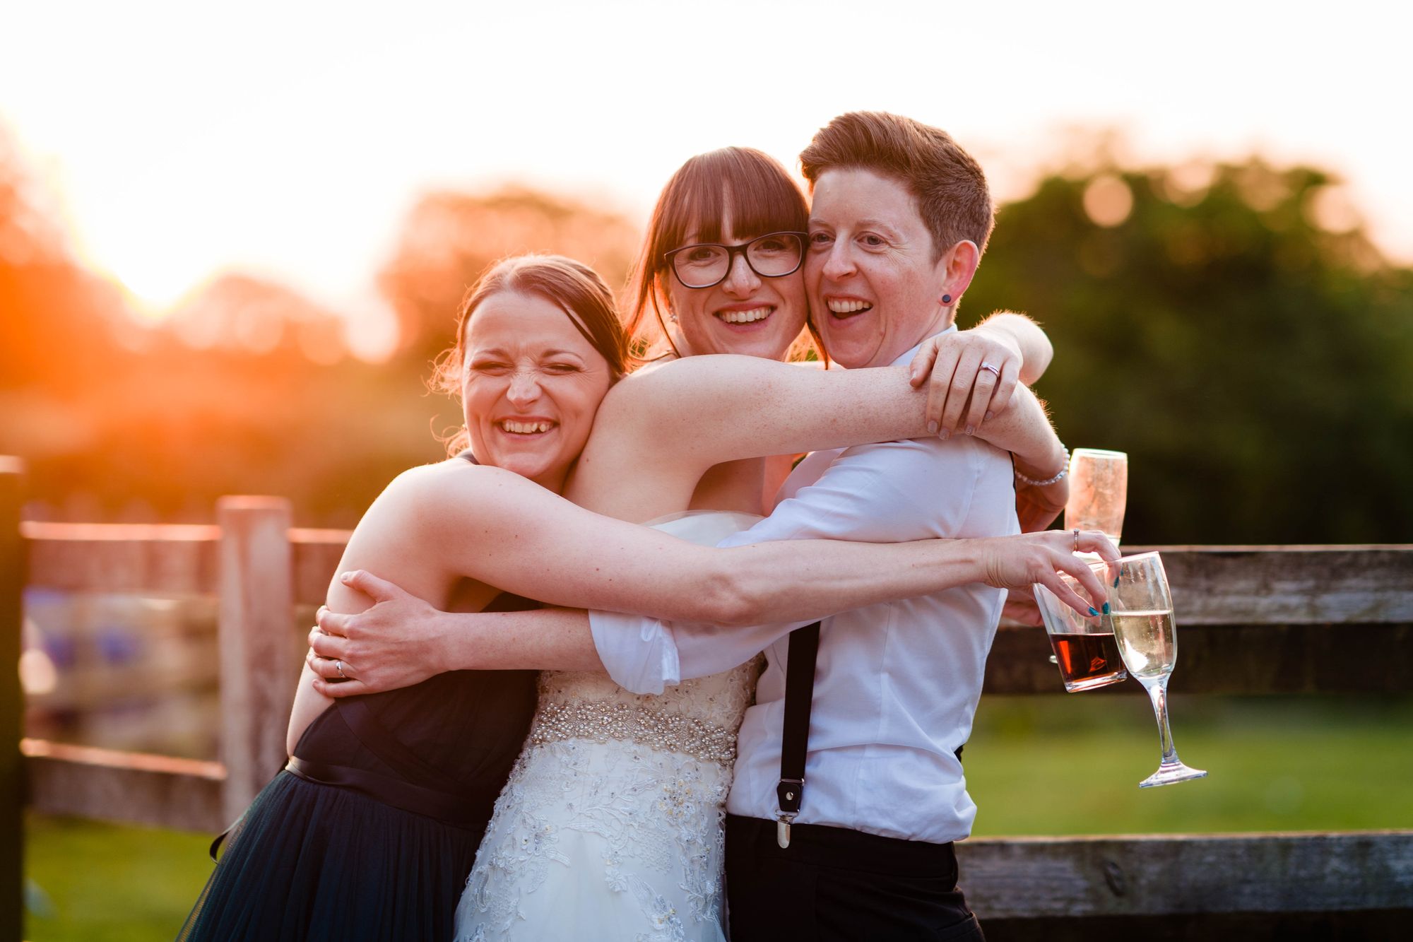
[[[636,743],[526,750],[456,909],[458,939],[722,932],[728,764]]]

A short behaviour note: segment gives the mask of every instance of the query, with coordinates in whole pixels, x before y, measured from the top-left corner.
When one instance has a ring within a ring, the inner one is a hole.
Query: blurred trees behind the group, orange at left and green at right
[[[962,325],[1027,311],[1039,385],[1071,446],[1128,451],[1135,543],[1406,542],[1413,270],[1383,260],[1338,181],[1308,167],[1101,160],[1005,205]],[[160,318],[89,272],[0,134],[0,454],[30,516],[208,521],[278,494],[352,526],[444,453],[425,392],[456,303],[492,260],[561,252],[623,284],[639,221],[524,188],[431,192],[377,284],[398,339],[348,352],[348,318],[227,273]]]

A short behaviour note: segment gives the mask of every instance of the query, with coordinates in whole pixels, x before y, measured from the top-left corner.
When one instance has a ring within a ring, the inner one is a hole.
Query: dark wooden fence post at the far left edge
[[[24,938],[24,546],[20,539],[18,458],[0,457],[0,942]]]

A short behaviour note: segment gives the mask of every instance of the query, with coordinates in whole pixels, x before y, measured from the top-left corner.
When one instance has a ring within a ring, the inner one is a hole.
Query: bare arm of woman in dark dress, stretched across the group
[[[389,549],[365,546],[365,530],[374,529]],[[373,567],[363,560],[430,601],[473,578],[550,605],[719,625],[815,618],[978,581],[986,571],[975,547],[948,540],[698,546],[465,463],[418,468],[389,487],[349,542],[345,563]],[[335,598],[339,593],[350,595]],[[355,600],[369,604],[348,584],[331,591],[335,610]]]

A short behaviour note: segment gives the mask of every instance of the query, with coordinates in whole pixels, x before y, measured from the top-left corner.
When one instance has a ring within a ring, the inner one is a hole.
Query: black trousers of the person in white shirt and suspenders
[[[732,942],[985,939],[957,888],[951,844],[726,816]]]

